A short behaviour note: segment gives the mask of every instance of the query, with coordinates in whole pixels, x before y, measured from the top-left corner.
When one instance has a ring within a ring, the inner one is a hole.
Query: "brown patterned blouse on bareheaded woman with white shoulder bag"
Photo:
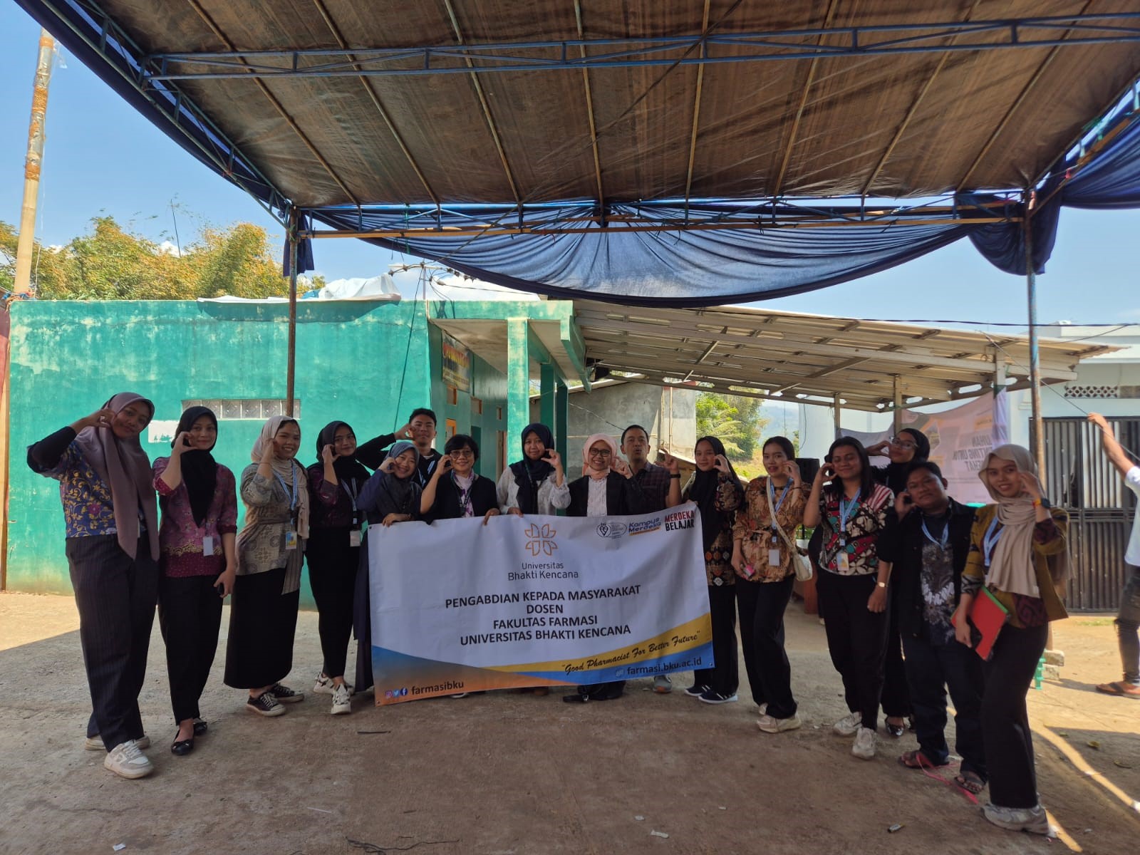
[[[772,507],[768,505],[768,479],[766,475],[754,478],[744,488],[744,503],[736,512],[736,523],[732,528],[733,539],[740,540],[744,565],[738,576],[747,581],[782,581],[796,572],[791,551],[772,527]],[[780,511],[776,520],[780,528],[795,543],[796,529],[804,522],[804,508],[812,492],[811,483],[789,483],[784,488],[772,486],[776,505]],[[783,500],[781,502],[781,496]],[[780,551],[780,563],[768,563],[768,551]],[[749,575],[747,570],[751,568]]]

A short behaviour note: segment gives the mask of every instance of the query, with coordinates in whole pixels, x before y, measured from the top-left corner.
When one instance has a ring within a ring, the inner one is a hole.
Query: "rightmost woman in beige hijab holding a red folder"
[[[985,663],[982,740],[990,766],[985,817],[1003,829],[1049,834],[1037,798],[1025,695],[1045,651],[1049,622],[1067,617],[1056,584],[1068,575],[1068,514],[1051,507],[1036,465],[1020,446],[999,446],[978,473],[995,504],[979,507],[962,571],[954,635],[972,646],[968,617],[986,596],[1009,612]]]

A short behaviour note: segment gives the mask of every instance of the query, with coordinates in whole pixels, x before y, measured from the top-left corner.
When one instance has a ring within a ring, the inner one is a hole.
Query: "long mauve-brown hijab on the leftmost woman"
[[[120,392],[103,405],[119,414],[129,404],[141,401],[150,408],[154,404],[135,392]],[[111,500],[115,510],[115,531],[123,552],[136,557],[139,543],[139,511],[146,522],[147,539],[150,542],[150,557],[158,560],[158,510],[154,496],[154,474],[150,458],[142,450],[139,438],[119,439],[111,425],[84,427],[75,437],[83,458],[111,487]]]

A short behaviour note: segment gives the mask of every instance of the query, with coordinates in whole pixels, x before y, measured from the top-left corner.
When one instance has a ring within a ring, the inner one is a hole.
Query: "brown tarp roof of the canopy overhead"
[[[877,24],[913,25],[907,34],[917,35],[933,23],[1140,10],[1133,0],[100,0],[99,6],[152,54],[345,51],[301,56],[300,68],[369,48]],[[1081,33],[1058,26],[1032,35]],[[986,31],[922,43],[1003,38]],[[840,33],[785,41],[813,47],[847,39]],[[618,49],[591,46],[583,52]],[[571,58],[578,50],[570,49]],[[708,51],[723,57],[757,48],[717,43]],[[556,51],[536,48],[526,56],[553,59]],[[691,58],[691,51],[654,56]],[[243,74],[242,63],[253,60],[236,62],[230,71]],[[266,59],[272,62],[285,60]],[[413,51],[385,67],[410,70],[423,62]],[[463,65],[455,57],[440,63]],[[217,66],[171,62],[168,68],[195,73]],[[251,75],[178,85],[279,190],[314,207],[905,197],[1024,188],[1138,73],[1140,43],[1131,41],[478,75]]]

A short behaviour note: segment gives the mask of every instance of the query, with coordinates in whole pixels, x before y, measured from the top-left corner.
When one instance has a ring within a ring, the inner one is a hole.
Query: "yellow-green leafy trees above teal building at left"
[[[124,229],[113,217],[96,217],[91,231],[62,247],[36,244],[33,291],[41,300],[194,300],[230,294],[287,296],[268,233],[250,222],[203,226],[197,238],[171,252]],[[0,287],[11,290],[16,230],[0,222]],[[324,284],[320,277],[310,286]]]

